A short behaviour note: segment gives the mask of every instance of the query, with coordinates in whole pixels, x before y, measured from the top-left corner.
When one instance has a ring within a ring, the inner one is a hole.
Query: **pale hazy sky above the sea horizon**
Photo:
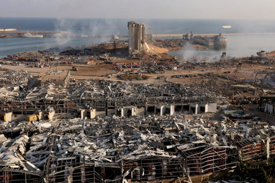
[[[0,0],[0,16],[275,19],[275,0]]]

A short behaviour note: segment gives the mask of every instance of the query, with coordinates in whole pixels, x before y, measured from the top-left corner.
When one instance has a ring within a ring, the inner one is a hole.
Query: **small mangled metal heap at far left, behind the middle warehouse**
[[[0,84],[28,86],[32,80],[32,75],[23,70],[8,70],[0,74]]]

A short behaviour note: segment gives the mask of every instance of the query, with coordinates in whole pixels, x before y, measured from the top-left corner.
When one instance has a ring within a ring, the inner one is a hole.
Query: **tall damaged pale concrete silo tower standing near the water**
[[[133,52],[140,51],[145,43],[145,24],[135,21],[128,22],[129,29],[129,55]]]

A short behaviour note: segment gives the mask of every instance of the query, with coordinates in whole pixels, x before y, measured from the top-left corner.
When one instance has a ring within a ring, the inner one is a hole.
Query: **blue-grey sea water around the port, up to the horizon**
[[[71,34],[127,34],[129,19],[55,19],[55,18],[0,18],[0,28],[21,30],[63,30]],[[193,33],[258,33],[275,32],[275,20],[221,20],[221,19],[135,19],[151,28],[153,34],[184,34]],[[224,29],[222,25],[231,25]],[[226,36],[228,46],[225,50],[210,51],[177,51],[174,55],[213,56],[226,51],[230,56],[256,55],[260,50],[275,50],[275,35]],[[0,57],[16,52],[54,47],[90,45],[108,41],[110,38],[1,38]]]

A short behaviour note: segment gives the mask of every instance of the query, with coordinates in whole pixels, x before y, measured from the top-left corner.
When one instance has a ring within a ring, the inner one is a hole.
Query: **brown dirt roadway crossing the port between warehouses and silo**
[[[104,79],[109,81],[123,81],[120,80],[117,77],[117,74],[119,73],[118,70],[113,69],[114,65],[110,64],[101,64],[101,65],[77,65],[74,64],[79,71],[71,71],[71,78],[77,79],[77,80],[86,80],[86,79]],[[3,68],[7,68],[9,70],[26,70],[30,72],[33,76],[38,75],[38,69],[36,67],[29,67],[29,66],[11,66],[11,65],[2,65]],[[72,66],[53,66],[53,67],[43,67],[39,68],[39,75],[41,77],[45,76],[46,73],[51,70],[71,70]],[[217,69],[208,69],[205,71],[202,71],[204,68],[199,67],[200,70],[178,70],[178,71],[166,71],[165,73],[161,74],[148,74],[145,72],[142,72],[143,75],[149,76],[148,80],[132,80],[132,81],[126,81],[126,82],[132,82],[132,83],[156,83],[161,82],[164,80],[165,76],[171,77],[173,75],[190,75],[190,74],[207,74],[207,73],[216,73]],[[259,71],[266,69],[265,65],[254,65],[254,66],[246,66],[242,67],[241,71]],[[218,72],[218,74],[222,74],[224,72],[230,71],[233,72],[236,70],[236,68],[226,68],[222,69]],[[1,70],[0,73],[4,73],[5,71]],[[125,71],[124,71],[125,72]],[[120,72],[120,74],[124,73]],[[138,72],[138,70],[134,70],[134,72]],[[112,74],[110,78],[107,77],[108,74]],[[157,79],[157,77],[160,77],[160,79]],[[172,81],[172,80],[171,80]]]

